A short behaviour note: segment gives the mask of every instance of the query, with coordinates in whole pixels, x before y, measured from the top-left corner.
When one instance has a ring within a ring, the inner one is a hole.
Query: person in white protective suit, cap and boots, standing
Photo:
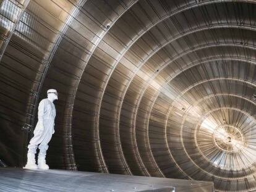
[[[58,99],[58,93],[56,90],[51,89],[47,91],[47,95],[48,98],[42,99],[38,106],[38,122],[33,132],[34,136],[28,144],[28,160],[24,169],[49,169],[45,157],[48,143],[54,133],[56,109],[53,101]],[[35,163],[37,147],[40,149],[38,154],[38,165]]]

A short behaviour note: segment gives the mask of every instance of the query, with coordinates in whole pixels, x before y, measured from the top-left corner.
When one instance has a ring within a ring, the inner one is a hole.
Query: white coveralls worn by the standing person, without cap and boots
[[[41,156],[46,155],[48,149],[48,143],[51,140],[51,136],[54,133],[54,119],[56,116],[56,109],[48,98],[41,100],[38,106],[38,122],[34,130],[34,136],[28,144],[28,152],[36,153],[36,148],[40,149]]]

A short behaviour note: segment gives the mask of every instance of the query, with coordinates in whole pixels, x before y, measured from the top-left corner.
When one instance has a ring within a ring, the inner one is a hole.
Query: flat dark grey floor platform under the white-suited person
[[[69,170],[0,168],[0,191],[213,191],[213,183]]]

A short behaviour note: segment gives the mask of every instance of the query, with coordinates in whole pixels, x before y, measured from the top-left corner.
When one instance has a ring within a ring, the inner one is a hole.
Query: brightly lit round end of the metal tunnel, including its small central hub
[[[229,111],[231,112],[231,111]],[[236,120],[218,120],[213,111],[197,124],[194,132],[198,152],[208,163],[224,170],[242,170],[254,166],[256,141],[254,118],[245,112],[240,114],[242,123]]]

